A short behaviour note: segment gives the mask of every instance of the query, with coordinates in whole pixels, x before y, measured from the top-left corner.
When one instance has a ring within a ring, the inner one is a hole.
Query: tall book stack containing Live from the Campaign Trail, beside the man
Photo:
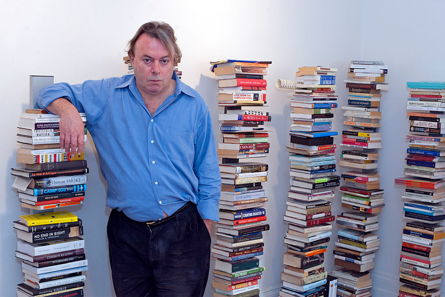
[[[211,249],[214,296],[258,296],[264,267],[257,256],[263,254],[262,232],[269,230],[263,189],[268,164],[251,159],[269,152],[269,134],[263,125],[271,116],[265,108],[264,77],[271,62],[223,60],[210,64],[218,79],[218,105],[224,110],[219,114],[223,132],[223,143],[218,145],[220,219]]]

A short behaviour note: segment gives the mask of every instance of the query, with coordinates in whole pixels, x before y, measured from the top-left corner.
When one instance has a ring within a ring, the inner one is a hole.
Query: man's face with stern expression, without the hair
[[[131,64],[141,94],[158,95],[169,89],[173,58],[159,39],[142,34],[134,45]]]

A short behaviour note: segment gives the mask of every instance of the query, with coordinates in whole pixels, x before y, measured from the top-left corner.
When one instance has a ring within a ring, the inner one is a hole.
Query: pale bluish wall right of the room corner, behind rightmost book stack
[[[443,1],[366,1],[364,3],[362,58],[388,64],[389,92],[382,95],[380,187],[386,207],[380,215],[380,251],[373,272],[376,296],[395,296],[403,217],[402,188],[394,178],[403,176],[409,131],[406,116],[407,81],[445,81]],[[445,284],[442,281],[442,290]],[[378,295],[377,295],[378,294]]]

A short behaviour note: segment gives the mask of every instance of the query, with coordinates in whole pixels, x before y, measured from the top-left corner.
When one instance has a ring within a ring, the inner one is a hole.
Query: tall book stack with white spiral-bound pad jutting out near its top
[[[335,96],[336,68],[299,67],[295,81],[279,80],[277,87],[292,89],[289,161],[291,187],[286,201],[284,238],[287,252],[281,279],[282,297],[328,296],[328,274],[324,271],[335,216],[331,215],[336,175],[334,135],[331,131]],[[333,293],[335,296],[335,293]],[[332,295],[332,292],[331,292]]]

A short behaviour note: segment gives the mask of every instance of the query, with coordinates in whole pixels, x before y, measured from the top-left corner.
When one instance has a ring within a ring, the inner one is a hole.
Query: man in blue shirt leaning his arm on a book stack
[[[83,149],[87,115],[102,175],[117,296],[202,296],[221,177],[209,110],[178,80],[174,30],[143,24],[129,41],[134,75],[58,83],[41,107],[61,115],[61,148]]]

